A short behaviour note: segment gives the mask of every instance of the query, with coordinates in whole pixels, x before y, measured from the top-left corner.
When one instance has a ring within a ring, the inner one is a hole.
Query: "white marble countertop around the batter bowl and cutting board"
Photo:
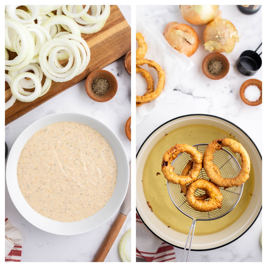
[[[131,6],[119,6],[131,26]],[[124,126],[131,116],[131,77],[125,72],[123,58],[104,68],[116,77],[118,90],[108,102],[98,103],[85,92],[85,80],[50,99],[34,110],[6,125],[5,139],[9,147],[19,134],[31,123],[46,115],[58,112],[84,113],[107,125],[122,142],[129,163],[131,162],[131,142],[125,135]],[[5,215],[22,235],[23,262],[91,262],[102,245],[119,211],[107,223],[86,234],[59,236],[46,233],[26,221],[14,207],[5,188]],[[131,229],[131,213],[120,230],[106,262],[120,262],[119,241]]]

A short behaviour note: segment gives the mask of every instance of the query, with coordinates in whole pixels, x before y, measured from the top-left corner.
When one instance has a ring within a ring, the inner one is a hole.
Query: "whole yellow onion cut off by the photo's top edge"
[[[218,5],[180,5],[183,18],[195,25],[205,25],[211,22],[218,10]]]

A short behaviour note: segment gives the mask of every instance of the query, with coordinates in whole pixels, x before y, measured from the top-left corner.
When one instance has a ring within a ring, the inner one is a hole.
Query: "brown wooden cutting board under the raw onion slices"
[[[52,81],[49,91],[32,102],[26,103],[16,100],[13,106],[5,111],[5,124],[79,83],[87,78],[92,71],[104,68],[131,50],[131,28],[116,5],[110,6],[110,15],[105,26],[99,32],[93,34],[82,33],[81,35],[91,51],[90,62],[84,72],[63,83]],[[11,97],[11,91],[7,83],[5,90],[6,102]]]

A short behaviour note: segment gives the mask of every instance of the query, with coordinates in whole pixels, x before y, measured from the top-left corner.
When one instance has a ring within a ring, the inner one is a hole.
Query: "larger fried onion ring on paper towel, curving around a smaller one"
[[[158,80],[158,84],[157,84],[157,87],[156,87],[154,92],[147,94],[147,95],[145,94],[143,96],[136,96],[136,102],[137,103],[149,102],[149,101],[155,99],[156,97],[159,96],[159,94],[161,93],[161,91],[164,87],[165,72],[164,72],[164,70],[162,70],[161,66],[153,60],[148,60],[148,59],[136,60],[137,66],[144,65],[144,64],[148,64],[148,66],[153,67],[157,71],[159,80]]]

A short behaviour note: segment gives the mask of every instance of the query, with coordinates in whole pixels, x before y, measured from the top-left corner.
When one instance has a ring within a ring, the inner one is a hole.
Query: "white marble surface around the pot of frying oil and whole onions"
[[[190,57],[195,66],[136,127],[136,152],[146,137],[164,122],[195,113],[216,115],[233,122],[252,138],[262,152],[262,104],[256,107],[248,106],[239,96],[239,89],[244,81],[249,78],[262,80],[262,68],[254,76],[246,77],[235,67],[237,58],[244,50],[255,50],[262,41],[262,9],[251,16],[242,14],[236,5],[220,5],[220,9],[222,18],[229,19],[241,35],[240,42],[235,45],[234,50],[230,54],[223,53],[230,63],[227,76],[215,81],[203,74],[201,64],[203,58],[209,54],[203,46],[205,26],[193,25],[201,40],[197,52]],[[137,6],[136,13],[142,14],[161,33],[168,22],[187,23],[182,18],[178,5]],[[168,107],[167,111],[163,111],[163,107]],[[252,227],[233,243],[211,251],[192,251],[189,261],[261,262],[261,231],[262,213]],[[177,261],[180,261],[182,250],[175,248],[175,253]]]

